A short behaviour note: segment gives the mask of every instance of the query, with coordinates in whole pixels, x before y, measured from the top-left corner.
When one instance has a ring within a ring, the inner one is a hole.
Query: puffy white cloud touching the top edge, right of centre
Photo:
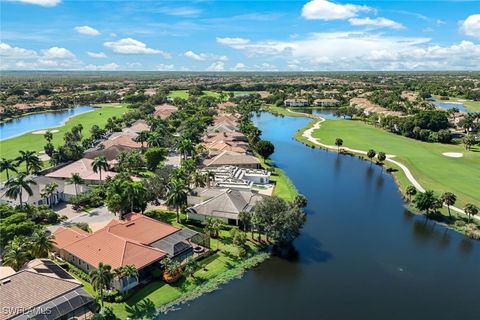
[[[356,17],[360,12],[374,11],[367,6],[338,4],[327,0],[311,0],[302,8],[302,17],[308,20],[344,20]]]

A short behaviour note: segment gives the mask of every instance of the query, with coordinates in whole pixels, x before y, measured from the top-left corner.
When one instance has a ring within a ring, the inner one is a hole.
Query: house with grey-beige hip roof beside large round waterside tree
[[[215,217],[228,224],[238,224],[240,212],[251,212],[255,204],[264,196],[255,191],[229,188],[212,188],[199,195],[204,199],[186,209],[188,219],[204,221]]]

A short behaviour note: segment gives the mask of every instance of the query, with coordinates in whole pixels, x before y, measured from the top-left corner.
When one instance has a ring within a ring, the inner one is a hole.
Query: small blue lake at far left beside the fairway
[[[90,106],[26,115],[0,124],[0,140],[20,136],[24,133],[61,126],[71,116],[93,110]]]

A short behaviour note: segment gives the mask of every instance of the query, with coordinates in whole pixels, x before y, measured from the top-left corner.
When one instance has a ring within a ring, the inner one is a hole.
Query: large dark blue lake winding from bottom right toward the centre
[[[309,200],[298,257],[274,257],[162,318],[479,319],[479,242],[406,212],[379,168],[294,141],[308,120],[255,122]]]

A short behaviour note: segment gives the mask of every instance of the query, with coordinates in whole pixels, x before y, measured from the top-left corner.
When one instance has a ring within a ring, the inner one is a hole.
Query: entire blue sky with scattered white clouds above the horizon
[[[480,70],[480,1],[1,0],[0,68]]]

